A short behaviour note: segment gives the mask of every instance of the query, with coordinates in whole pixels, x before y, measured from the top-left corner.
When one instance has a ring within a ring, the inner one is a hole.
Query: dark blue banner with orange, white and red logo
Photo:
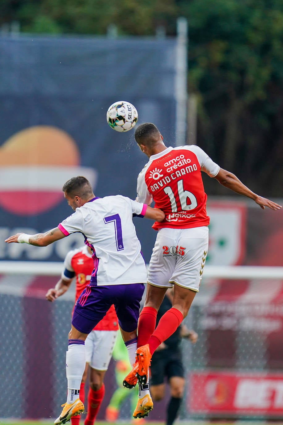
[[[174,145],[175,57],[174,39],[0,38],[0,259],[62,261],[83,243],[80,234],[40,249],[4,243],[70,215],[62,185],[73,176],[89,178],[97,196],[135,198],[147,158],[106,111],[131,102],[137,124],[154,122]],[[134,220],[148,262],[155,232]]]

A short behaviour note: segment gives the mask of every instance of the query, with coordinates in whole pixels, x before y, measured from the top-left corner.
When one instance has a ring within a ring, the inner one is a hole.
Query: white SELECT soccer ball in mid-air
[[[113,130],[129,131],[137,122],[137,110],[132,103],[121,100],[108,108],[106,118]]]

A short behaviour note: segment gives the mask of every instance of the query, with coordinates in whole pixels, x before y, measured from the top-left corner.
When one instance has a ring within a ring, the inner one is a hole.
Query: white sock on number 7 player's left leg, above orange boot
[[[68,380],[67,404],[72,404],[79,398],[81,379],[85,369],[84,341],[68,346],[66,352],[66,376]]]

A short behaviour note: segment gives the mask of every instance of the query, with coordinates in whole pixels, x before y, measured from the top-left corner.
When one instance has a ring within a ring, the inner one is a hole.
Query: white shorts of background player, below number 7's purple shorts
[[[118,331],[91,331],[85,340],[86,363],[93,369],[106,371],[115,346]]]

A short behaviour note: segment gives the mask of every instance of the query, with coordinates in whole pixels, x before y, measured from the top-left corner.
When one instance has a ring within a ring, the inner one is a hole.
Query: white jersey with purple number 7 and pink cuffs
[[[146,283],[146,265],[132,215],[143,217],[146,204],[121,195],[93,198],[58,225],[68,236],[81,232],[91,246],[90,285]]]

